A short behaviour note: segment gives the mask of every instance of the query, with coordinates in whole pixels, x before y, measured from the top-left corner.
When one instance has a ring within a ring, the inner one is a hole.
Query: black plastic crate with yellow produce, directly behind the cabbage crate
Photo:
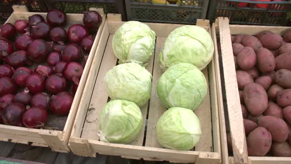
[[[205,19],[209,0],[125,0],[127,19],[196,24]]]

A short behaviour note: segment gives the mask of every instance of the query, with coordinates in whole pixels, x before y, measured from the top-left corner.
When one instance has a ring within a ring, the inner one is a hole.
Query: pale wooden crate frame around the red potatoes
[[[227,110],[229,116],[228,118],[226,118],[228,120],[226,120],[225,123],[227,124],[227,126],[229,124],[233,149],[233,157],[229,157],[229,163],[291,164],[291,157],[248,157],[245,129],[230,39],[230,35],[255,35],[263,30],[269,30],[275,34],[282,35],[284,31],[290,29],[291,27],[229,25],[228,22],[228,18],[219,17],[216,21],[215,26],[216,30],[219,33],[221,46],[221,66],[223,67],[224,79],[224,86],[222,87],[225,87],[227,102],[227,107],[225,108],[225,110]],[[224,120],[221,120],[221,122],[223,121]],[[224,134],[221,134],[221,147],[226,147],[224,152],[227,152],[225,123],[220,124],[220,128],[224,129]]]

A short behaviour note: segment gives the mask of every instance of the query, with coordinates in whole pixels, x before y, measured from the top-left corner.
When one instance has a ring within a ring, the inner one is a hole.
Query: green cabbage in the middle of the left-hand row
[[[131,62],[114,66],[104,77],[104,83],[112,100],[128,100],[142,107],[150,98],[151,79],[145,67]]]

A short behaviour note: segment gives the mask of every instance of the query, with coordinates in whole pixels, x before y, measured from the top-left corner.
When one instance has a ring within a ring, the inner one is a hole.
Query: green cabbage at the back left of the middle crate
[[[155,33],[138,21],[124,23],[115,32],[112,47],[119,63],[146,65],[155,47]]]

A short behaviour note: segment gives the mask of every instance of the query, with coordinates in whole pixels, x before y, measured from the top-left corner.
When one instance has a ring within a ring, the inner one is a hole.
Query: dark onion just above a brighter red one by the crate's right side
[[[63,61],[69,63],[79,61],[83,57],[81,48],[77,44],[69,44],[63,49]]]

